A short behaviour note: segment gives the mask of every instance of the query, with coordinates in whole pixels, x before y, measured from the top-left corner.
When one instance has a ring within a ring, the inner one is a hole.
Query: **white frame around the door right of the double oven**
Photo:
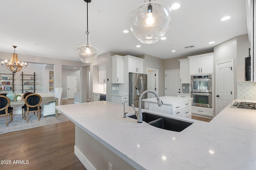
[[[228,59],[228,60],[225,60],[225,61],[219,61],[217,63],[215,63],[215,76],[214,76],[214,116],[216,116],[216,110],[217,110],[217,103],[216,103],[216,94],[217,94],[217,66],[218,64],[224,64],[224,63],[228,63],[228,62],[232,62],[232,68],[233,68],[233,89],[232,89],[232,92],[233,92],[233,100],[234,100],[234,96],[235,96],[235,93],[237,93],[237,91],[235,92],[234,89],[235,89],[235,70],[234,70],[234,59]],[[237,95],[237,94],[236,94]]]

